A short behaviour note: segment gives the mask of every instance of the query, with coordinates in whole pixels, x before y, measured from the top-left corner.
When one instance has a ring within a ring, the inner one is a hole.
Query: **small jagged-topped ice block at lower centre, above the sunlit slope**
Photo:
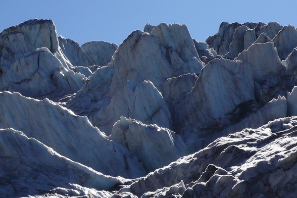
[[[137,156],[146,172],[168,165],[187,153],[182,138],[173,131],[123,116],[113,125],[110,138]]]

